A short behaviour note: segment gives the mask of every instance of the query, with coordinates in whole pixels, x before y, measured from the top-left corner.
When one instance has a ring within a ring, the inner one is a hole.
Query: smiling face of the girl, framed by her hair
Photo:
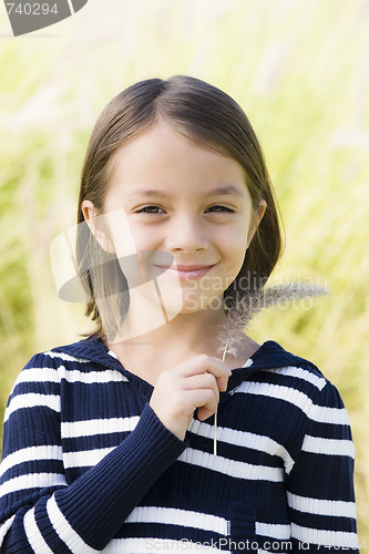
[[[182,312],[223,310],[223,293],[239,273],[265,212],[264,201],[253,211],[240,164],[156,123],[113,156],[110,173],[104,212],[115,213],[110,235],[119,257],[130,235],[126,253],[133,240],[141,274],[161,275],[166,297],[180,289]],[[126,269],[135,286],[137,270],[130,276]]]

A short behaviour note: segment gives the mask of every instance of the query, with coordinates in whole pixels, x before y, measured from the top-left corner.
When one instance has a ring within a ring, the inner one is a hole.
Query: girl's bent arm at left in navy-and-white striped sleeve
[[[44,358],[37,356],[24,368],[6,412],[0,466],[1,552],[93,554],[106,546],[185,444],[146,406],[129,437],[68,485],[58,370],[44,365]],[[28,380],[28,371],[39,371],[40,380]]]

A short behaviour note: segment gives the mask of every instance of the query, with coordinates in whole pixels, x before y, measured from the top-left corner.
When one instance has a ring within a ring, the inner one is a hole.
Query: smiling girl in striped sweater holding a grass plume
[[[271,340],[218,352],[281,249],[240,107],[188,76],[123,91],[93,130],[78,222],[96,330],[35,355],[11,392],[1,552],[358,552],[335,387]]]

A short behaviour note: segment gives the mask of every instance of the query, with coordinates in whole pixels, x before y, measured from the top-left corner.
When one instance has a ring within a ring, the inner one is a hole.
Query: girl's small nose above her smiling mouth
[[[178,215],[171,222],[166,238],[170,252],[194,253],[205,250],[208,239],[204,226],[193,215]]]

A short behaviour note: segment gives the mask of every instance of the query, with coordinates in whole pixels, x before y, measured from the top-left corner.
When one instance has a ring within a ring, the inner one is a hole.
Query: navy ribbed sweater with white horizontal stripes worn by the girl
[[[3,554],[357,553],[353,447],[335,387],[265,342],[185,441],[100,339],[35,355],[4,416]]]

